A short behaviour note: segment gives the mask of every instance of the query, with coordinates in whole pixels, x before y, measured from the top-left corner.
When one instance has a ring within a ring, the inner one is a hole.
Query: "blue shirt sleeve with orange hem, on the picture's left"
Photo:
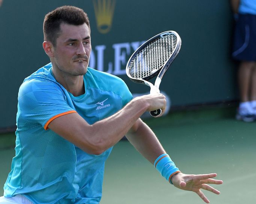
[[[63,90],[53,81],[25,81],[18,94],[20,115],[28,123],[41,124],[46,130],[55,118],[76,112],[65,99]]]

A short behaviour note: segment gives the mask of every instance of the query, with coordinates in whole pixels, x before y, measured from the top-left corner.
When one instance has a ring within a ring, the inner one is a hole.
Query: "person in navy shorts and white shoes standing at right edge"
[[[256,1],[231,0],[235,16],[233,59],[240,62],[237,120],[256,120]]]

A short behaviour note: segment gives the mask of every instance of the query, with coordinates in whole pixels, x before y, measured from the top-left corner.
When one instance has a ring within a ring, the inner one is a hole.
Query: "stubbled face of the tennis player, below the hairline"
[[[86,24],[60,25],[60,34],[54,48],[54,63],[60,74],[80,76],[87,72],[91,52],[90,29]]]

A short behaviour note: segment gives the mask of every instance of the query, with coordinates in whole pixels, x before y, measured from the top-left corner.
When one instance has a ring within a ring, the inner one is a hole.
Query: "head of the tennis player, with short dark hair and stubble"
[[[62,6],[45,16],[45,53],[53,71],[62,75],[84,75],[90,59],[90,24],[87,14],[74,6]]]

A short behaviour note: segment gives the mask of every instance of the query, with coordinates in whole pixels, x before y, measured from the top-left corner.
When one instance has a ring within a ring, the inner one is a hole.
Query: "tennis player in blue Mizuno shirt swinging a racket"
[[[208,185],[222,183],[212,179],[215,173],[181,173],[140,120],[145,111],[164,113],[162,94],[132,99],[120,78],[88,67],[90,24],[82,9],[58,7],[45,16],[43,29],[51,63],[20,86],[16,155],[1,204],[98,204],[105,161],[129,130],[131,144],[168,182],[206,203],[200,189],[220,193]]]

